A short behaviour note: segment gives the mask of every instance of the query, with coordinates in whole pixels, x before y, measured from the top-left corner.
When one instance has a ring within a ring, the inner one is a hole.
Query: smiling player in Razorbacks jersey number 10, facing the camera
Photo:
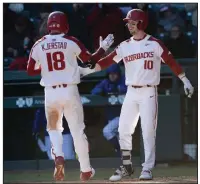
[[[126,85],[128,86],[120,119],[119,137],[122,152],[122,166],[110,177],[118,181],[123,176],[133,174],[131,162],[132,134],[141,118],[145,161],[142,164],[141,180],[151,180],[155,165],[155,140],[157,127],[157,85],[160,83],[161,61],[166,63],[184,84],[185,94],[191,97],[194,88],[181,66],[174,60],[171,52],[158,39],[144,32],[147,27],[147,15],[140,9],[128,12],[124,21],[132,37],[118,45],[98,65],[105,69],[113,63],[123,60]],[[180,48],[181,49],[181,48]]]

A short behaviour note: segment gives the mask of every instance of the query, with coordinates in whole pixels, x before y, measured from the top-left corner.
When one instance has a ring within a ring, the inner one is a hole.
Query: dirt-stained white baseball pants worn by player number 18
[[[55,89],[53,87],[45,87],[47,131],[49,130],[49,114],[52,111],[58,113],[56,129],[61,131],[63,131],[62,117],[64,114],[74,140],[74,147],[79,158],[81,171],[91,171],[88,141],[84,133],[83,106],[77,85],[67,85],[67,87],[61,85],[61,87],[57,86]]]

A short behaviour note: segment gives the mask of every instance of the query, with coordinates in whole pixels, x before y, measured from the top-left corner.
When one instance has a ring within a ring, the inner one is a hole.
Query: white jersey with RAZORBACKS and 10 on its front
[[[158,85],[160,82],[161,55],[163,48],[150,35],[142,40],[122,42],[116,48],[115,62],[123,59],[125,65],[126,85]]]

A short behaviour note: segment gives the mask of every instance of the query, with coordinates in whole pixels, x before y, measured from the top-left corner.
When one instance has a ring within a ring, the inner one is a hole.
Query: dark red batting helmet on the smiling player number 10
[[[128,22],[128,20],[138,21],[137,27],[140,30],[145,30],[148,24],[147,14],[140,9],[130,10],[123,20],[125,22]]]

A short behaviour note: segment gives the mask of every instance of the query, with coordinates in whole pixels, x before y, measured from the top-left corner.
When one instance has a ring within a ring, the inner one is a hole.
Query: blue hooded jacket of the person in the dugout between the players
[[[107,76],[110,73],[118,73],[119,79],[116,82],[111,82],[109,78],[104,79],[91,91],[93,95],[99,94],[124,94],[127,91],[127,86],[125,85],[125,76],[121,76],[121,70],[118,64],[113,64],[107,69]]]

